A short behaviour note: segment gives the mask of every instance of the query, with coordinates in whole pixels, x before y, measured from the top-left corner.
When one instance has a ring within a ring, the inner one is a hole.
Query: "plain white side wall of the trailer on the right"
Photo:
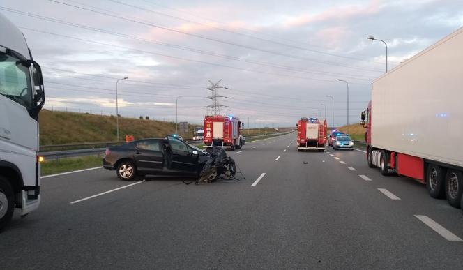
[[[372,84],[372,146],[463,167],[463,27]]]

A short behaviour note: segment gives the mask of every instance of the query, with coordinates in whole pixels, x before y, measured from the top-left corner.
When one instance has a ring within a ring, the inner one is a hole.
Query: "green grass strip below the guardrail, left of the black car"
[[[41,163],[42,175],[59,174],[74,170],[98,167],[102,164],[101,156],[80,156],[76,158],[60,158],[58,160],[45,160]]]

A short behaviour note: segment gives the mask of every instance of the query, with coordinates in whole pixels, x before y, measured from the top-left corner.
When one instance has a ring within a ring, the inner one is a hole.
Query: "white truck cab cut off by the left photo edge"
[[[0,14],[0,230],[40,203],[38,113],[45,103],[40,66],[26,39]]]

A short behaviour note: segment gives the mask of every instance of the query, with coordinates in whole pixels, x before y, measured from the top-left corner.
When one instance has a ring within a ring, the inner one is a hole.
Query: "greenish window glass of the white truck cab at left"
[[[22,61],[0,52],[0,94],[21,105],[32,106],[31,74]]]

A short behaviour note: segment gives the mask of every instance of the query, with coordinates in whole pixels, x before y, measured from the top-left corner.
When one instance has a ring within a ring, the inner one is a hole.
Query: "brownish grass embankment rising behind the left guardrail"
[[[192,126],[191,126],[192,127]],[[164,137],[175,133],[175,123],[119,117],[119,139]],[[116,117],[75,112],[40,112],[40,145],[116,141]],[[183,134],[181,134],[183,135]],[[185,134],[185,139],[192,137]]]

